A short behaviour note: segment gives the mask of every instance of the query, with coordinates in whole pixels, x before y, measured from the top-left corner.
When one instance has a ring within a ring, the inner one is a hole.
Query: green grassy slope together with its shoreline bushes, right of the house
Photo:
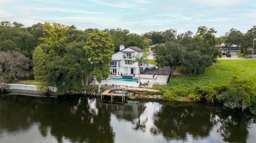
[[[172,77],[169,86],[155,85],[153,89],[165,91],[166,99],[222,103],[244,110],[256,106],[255,71],[254,60],[219,60],[202,76],[181,73]]]

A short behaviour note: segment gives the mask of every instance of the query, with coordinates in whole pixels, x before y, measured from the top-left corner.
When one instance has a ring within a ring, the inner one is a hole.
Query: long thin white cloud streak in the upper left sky
[[[44,8],[35,8],[37,11],[58,11],[58,12],[70,12],[70,13],[86,13],[86,14],[103,14],[101,12],[93,12],[93,11],[80,11],[80,10],[70,10],[63,9],[58,7],[44,7]]]

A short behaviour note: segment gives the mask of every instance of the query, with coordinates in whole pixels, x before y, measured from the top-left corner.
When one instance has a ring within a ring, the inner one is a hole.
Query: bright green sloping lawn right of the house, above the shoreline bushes
[[[169,87],[190,88],[198,86],[228,85],[232,75],[249,79],[256,85],[256,60],[219,60],[218,63],[206,69],[202,77],[197,75],[178,75],[172,77],[169,86],[155,85],[154,89]]]

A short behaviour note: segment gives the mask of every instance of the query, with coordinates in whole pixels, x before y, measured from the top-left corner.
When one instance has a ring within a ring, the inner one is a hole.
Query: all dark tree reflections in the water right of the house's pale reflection
[[[248,114],[230,113],[194,103],[163,104],[155,113],[155,127],[150,129],[152,134],[163,134],[167,140],[188,139],[209,136],[213,127],[228,142],[246,142],[248,128],[255,123],[255,118]]]

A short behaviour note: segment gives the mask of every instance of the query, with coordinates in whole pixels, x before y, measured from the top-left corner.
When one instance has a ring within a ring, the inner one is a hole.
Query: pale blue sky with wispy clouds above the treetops
[[[139,35],[199,26],[224,35],[231,28],[246,32],[256,25],[256,0],[0,0],[0,20],[25,26],[59,22],[78,29],[129,29]]]

